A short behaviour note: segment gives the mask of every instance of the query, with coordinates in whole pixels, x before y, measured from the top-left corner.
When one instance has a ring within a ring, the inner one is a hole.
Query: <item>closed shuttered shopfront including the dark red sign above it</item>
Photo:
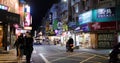
[[[116,44],[116,22],[90,23],[90,28],[96,33],[97,48],[112,48]]]

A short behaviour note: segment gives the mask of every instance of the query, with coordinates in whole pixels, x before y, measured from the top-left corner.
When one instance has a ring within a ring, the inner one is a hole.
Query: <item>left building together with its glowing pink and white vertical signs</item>
[[[0,48],[8,51],[24,26],[32,23],[30,7],[24,0],[0,0],[0,17]]]

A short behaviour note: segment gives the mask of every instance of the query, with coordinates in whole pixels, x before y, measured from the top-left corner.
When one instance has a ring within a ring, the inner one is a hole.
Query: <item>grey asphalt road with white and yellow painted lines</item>
[[[34,45],[32,63],[108,63],[108,57],[79,50],[69,53],[54,45]]]

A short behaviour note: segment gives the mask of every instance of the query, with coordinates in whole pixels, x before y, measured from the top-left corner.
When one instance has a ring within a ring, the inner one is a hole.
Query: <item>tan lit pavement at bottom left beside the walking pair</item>
[[[16,50],[11,49],[9,51],[2,50],[0,52],[0,63],[18,63]],[[25,63],[25,58],[23,57],[22,63]]]

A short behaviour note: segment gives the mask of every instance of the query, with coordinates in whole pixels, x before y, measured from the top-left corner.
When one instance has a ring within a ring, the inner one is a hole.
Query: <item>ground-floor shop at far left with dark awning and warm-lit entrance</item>
[[[20,16],[6,10],[0,10],[0,17],[0,47],[9,50],[15,41],[14,24],[19,24]]]

